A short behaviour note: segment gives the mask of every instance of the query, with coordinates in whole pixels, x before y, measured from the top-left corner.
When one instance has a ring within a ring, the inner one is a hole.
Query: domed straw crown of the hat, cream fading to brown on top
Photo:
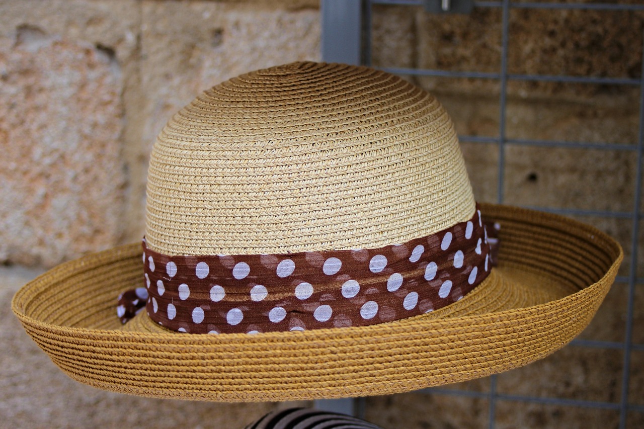
[[[214,86],[158,135],[146,242],[158,253],[378,248],[468,220],[439,102],[389,73],[295,62]]]

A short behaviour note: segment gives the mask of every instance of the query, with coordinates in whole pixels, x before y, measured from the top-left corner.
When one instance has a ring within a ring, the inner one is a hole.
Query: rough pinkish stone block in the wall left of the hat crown
[[[3,42],[0,260],[54,265],[113,245],[125,172],[111,59],[38,28]]]

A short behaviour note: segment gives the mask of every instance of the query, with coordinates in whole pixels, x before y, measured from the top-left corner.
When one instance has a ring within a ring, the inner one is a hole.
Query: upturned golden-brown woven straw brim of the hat
[[[25,285],[12,308],[77,381],[148,397],[290,401],[394,394],[522,367],[589,323],[623,258],[574,220],[483,204],[501,224],[498,266],[462,300],[367,327],[181,334],[144,312],[126,325],[119,292],[142,281],[140,244],[64,263]]]

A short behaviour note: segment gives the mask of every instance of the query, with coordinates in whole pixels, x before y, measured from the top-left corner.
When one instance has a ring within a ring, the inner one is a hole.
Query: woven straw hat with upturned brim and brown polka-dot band
[[[176,113],[146,220],[143,245],[59,265],[12,305],[73,379],[151,397],[382,395],[520,367],[587,326],[622,259],[593,227],[477,205],[439,102],[343,64],[241,75]]]

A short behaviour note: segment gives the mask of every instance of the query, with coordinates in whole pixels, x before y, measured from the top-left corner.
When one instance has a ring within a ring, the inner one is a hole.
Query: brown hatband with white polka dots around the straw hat
[[[372,325],[462,299],[492,267],[486,230],[477,209],[467,222],[379,249],[166,256],[147,249],[144,240],[146,289],[139,295],[147,296],[153,321],[180,332]],[[126,305],[119,305],[124,323]]]

